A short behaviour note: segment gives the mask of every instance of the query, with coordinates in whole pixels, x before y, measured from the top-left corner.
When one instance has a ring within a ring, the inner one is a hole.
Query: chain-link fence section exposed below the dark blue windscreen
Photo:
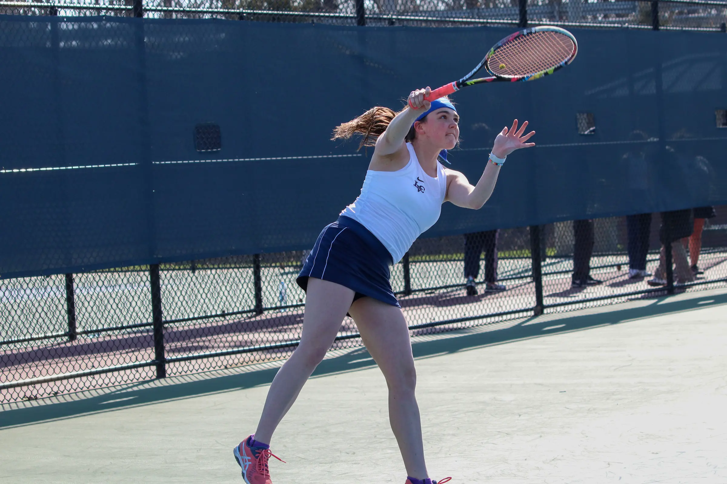
[[[286,358],[306,255],[2,280],[0,402]],[[419,239],[391,282],[413,335],[725,287],[727,206]]]

